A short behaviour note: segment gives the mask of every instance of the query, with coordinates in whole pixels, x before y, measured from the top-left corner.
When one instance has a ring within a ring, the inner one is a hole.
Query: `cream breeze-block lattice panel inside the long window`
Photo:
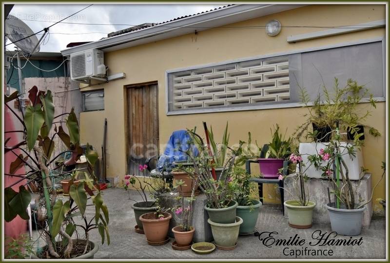
[[[288,56],[168,74],[169,111],[289,101]]]

